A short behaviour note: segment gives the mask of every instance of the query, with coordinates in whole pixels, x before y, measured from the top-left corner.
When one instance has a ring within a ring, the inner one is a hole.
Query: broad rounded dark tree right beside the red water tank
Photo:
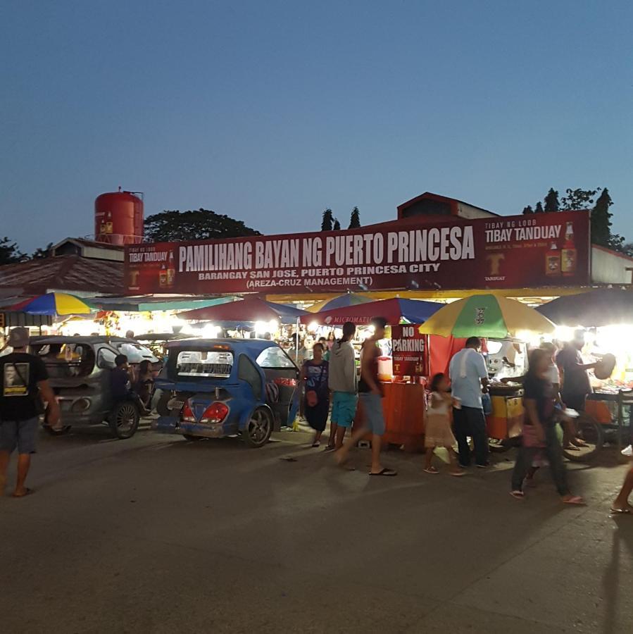
[[[210,240],[218,238],[261,235],[234,220],[210,209],[196,211],[161,211],[145,218],[147,242],[179,242],[180,240]]]

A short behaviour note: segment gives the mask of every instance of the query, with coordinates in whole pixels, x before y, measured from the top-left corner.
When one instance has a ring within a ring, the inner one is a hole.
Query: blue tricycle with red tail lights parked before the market
[[[153,428],[192,441],[239,434],[263,447],[273,431],[292,425],[299,407],[299,368],[268,340],[168,342],[156,387]]]

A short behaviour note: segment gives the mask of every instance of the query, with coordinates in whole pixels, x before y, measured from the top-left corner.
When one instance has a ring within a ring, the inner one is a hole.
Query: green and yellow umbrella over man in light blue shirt
[[[496,295],[472,295],[444,306],[420,332],[442,337],[521,338],[523,332],[553,332],[556,326],[516,299]]]

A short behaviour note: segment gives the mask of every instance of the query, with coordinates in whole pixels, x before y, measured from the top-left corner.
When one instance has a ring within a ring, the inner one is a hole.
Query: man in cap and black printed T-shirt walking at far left
[[[28,354],[29,331],[13,328],[8,345],[11,354],[0,357],[0,492],[4,494],[6,471],[11,454],[18,449],[18,481],[13,497],[31,492],[25,481],[35,454],[35,440],[42,399],[48,404],[48,423],[61,429],[59,406],[49,385],[44,361]]]

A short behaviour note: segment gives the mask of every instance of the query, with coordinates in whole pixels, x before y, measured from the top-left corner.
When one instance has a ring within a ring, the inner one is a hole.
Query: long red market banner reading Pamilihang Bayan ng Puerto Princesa
[[[589,213],[125,247],[130,293],[495,289],[589,282]]]

